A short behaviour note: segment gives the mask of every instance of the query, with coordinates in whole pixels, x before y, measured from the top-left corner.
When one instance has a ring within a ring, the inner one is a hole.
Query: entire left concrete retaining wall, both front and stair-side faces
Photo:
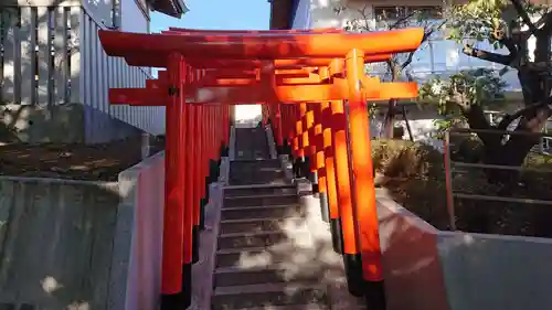
[[[119,182],[0,178],[0,303],[157,309],[163,154]]]

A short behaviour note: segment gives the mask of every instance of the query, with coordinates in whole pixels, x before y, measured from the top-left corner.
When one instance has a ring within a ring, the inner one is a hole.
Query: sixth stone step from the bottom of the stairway
[[[224,207],[221,212],[221,221],[302,217],[307,213],[306,207],[299,203],[273,206]]]

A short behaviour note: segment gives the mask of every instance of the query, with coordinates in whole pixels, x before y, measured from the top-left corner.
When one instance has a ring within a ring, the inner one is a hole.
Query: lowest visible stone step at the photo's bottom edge
[[[320,308],[306,308],[306,307]],[[270,309],[270,307],[302,307],[299,309],[329,310],[323,286],[311,284],[265,284],[217,287],[212,299],[213,310]]]

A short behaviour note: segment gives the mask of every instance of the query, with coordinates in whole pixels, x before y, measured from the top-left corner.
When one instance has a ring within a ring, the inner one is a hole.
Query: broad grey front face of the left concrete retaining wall
[[[115,183],[1,178],[0,301],[105,309],[118,201]]]

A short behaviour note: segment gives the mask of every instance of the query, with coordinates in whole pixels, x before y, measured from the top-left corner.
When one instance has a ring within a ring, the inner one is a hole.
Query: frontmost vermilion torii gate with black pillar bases
[[[113,104],[167,107],[162,309],[190,304],[192,232],[198,213],[198,206],[190,205],[197,203],[198,192],[191,189],[203,186],[198,179],[208,174],[204,168],[195,173],[188,167],[194,163],[190,146],[197,146],[202,157],[214,157],[217,142],[213,141],[226,141],[227,129],[213,132],[221,121],[227,127],[230,105],[316,105],[336,100],[348,100],[350,110],[354,177],[351,214],[359,223],[353,224],[353,229],[360,236],[362,270],[359,272],[367,282],[363,293],[369,307],[384,308],[365,98],[412,97],[416,86],[380,83],[365,77],[362,67],[369,61],[416,50],[423,34],[423,29],[360,34],[331,29],[276,32],[171,29],[161,34],[99,31],[108,55],[125,57],[130,65],[167,68],[167,75],[149,81],[146,88],[109,92]],[[341,76],[320,78],[316,68],[328,66],[335,58],[344,60],[346,71]],[[311,146],[312,150],[317,150],[316,146]],[[344,168],[338,164],[336,169]],[[200,190],[200,195],[204,194]]]

